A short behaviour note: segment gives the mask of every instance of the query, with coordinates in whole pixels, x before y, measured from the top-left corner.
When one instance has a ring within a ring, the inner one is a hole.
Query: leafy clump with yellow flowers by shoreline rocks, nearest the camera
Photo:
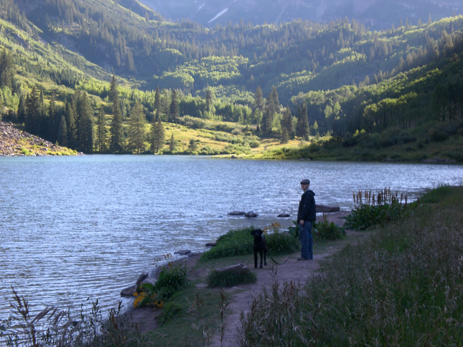
[[[171,256],[171,255],[170,255]],[[139,285],[133,302],[133,307],[164,308],[164,303],[169,300],[175,292],[189,286],[187,265],[169,262],[161,270],[155,285],[145,283]]]

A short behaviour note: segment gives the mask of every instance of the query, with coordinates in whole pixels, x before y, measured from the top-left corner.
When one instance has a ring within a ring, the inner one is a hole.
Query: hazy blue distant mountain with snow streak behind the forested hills
[[[309,19],[329,22],[344,17],[365,22],[372,29],[389,28],[400,19],[413,23],[463,13],[461,1],[450,0],[142,0],[142,2],[170,19],[188,18],[203,25],[216,23],[245,23],[254,25],[264,22],[288,22]],[[226,10],[226,11],[225,11]],[[225,12],[224,12],[225,11]],[[222,13],[223,12],[223,13]],[[219,17],[214,19],[218,14]]]

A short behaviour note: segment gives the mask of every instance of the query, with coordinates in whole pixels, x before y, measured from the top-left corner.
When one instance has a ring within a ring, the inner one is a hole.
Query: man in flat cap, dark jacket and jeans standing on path
[[[313,260],[313,236],[312,225],[316,219],[315,193],[309,190],[310,180],[300,181],[300,187],[304,191],[299,202],[297,223],[299,224],[299,240],[301,244],[300,258],[297,260]]]

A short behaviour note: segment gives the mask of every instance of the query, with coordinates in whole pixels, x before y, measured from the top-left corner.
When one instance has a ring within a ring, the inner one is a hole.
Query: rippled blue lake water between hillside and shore
[[[416,197],[460,183],[459,165],[251,161],[194,156],[0,157],[0,316],[13,285],[31,304],[113,304],[153,259],[204,244],[251,222],[295,217],[300,180],[318,204],[352,207],[352,192]],[[282,219],[288,226],[291,219]],[[41,307],[41,305],[39,305]]]

